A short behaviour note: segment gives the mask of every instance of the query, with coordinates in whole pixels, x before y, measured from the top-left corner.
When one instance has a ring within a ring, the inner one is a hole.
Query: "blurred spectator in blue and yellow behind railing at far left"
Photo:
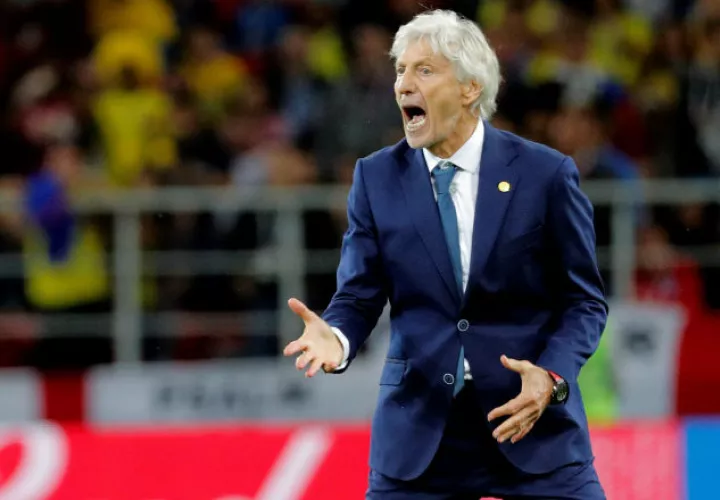
[[[30,362],[46,369],[77,368],[111,359],[107,320],[95,324],[92,338],[78,336],[63,321],[67,314],[107,313],[111,305],[101,233],[70,207],[73,192],[82,184],[83,169],[75,146],[52,145],[43,168],[28,179],[24,193],[25,292],[33,310],[46,320]],[[64,338],[68,333],[74,335]]]

